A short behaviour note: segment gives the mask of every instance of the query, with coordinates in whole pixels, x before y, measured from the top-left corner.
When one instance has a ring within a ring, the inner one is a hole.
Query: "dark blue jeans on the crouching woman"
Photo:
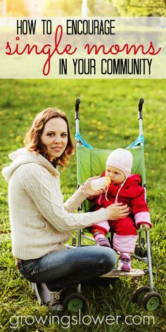
[[[20,273],[34,283],[46,283],[49,290],[67,288],[110,272],[116,264],[113,249],[84,246],[49,253],[34,260],[20,260]]]

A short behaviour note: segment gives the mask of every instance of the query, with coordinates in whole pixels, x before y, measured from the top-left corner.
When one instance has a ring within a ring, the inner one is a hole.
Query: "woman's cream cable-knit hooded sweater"
[[[2,174],[8,181],[8,204],[13,255],[22,260],[64,250],[70,231],[108,219],[101,208],[73,213],[87,196],[79,188],[63,203],[60,174],[42,155],[18,149]]]

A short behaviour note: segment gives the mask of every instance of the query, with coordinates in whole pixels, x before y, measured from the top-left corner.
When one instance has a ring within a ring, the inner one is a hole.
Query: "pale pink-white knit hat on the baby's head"
[[[125,148],[117,148],[110,155],[106,161],[106,166],[113,166],[124,172],[126,179],[132,172],[133,157],[132,153]]]

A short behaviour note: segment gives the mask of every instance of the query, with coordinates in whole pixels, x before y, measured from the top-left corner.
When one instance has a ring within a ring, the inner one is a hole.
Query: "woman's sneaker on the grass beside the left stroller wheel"
[[[60,294],[59,292],[51,292],[49,288],[46,287],[46,283],[41,283],[41,298],[42,301],[48,305],[50,308],[55,308],[58,311],[63,310],[63,305],[60,304]]]

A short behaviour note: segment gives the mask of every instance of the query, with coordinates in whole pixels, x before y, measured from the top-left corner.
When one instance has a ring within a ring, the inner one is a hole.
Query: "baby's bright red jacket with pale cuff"
[[[104,176],[105,172],[101,177]],[[103,193],[100,196],[95,196],[95,210],[98,210],[98,208],[106,208],[108,205],[115,203],[115,197],[117,196],[117,191],[119,189],[119,184],[110,184],[107,193],[108,200],[106,200],[106,193]],[[134,215],[136,224],[145,222],[151,226],[151,219],[145,200],[145,191],[143,187],[141,187],[141,177],[139,174],[131,174],[127,178],[127,181],[125,181],[125,184],[120,189],[117,202],[129,206]]]

